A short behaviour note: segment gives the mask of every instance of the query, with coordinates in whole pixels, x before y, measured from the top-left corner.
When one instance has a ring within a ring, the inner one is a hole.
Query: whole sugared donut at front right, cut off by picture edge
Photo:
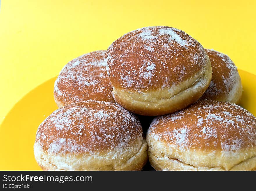
[[[228,102],[200,100],[155,118],[147,144],[156,170],[256,170],[256,118]]]

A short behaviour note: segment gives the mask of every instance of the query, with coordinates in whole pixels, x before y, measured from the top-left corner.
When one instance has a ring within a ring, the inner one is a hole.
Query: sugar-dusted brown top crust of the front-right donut
[[[237,151],[256,146],[256,118],[232,103],[200,100],[155,118],[147,134],[181,150]]]

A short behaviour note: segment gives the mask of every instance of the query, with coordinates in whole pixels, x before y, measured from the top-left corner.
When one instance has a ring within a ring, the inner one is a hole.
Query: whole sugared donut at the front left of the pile
[[[92,100],[50,114],[36,132],[34,155],[42,170],[141,170],[147,144],[134,114]]]

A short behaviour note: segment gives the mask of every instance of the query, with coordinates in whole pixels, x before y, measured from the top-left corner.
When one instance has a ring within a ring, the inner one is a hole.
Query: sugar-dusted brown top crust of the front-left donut
[[[129,148],[142,139],[140,122],[120,105],[83,101],[54,111],[38,127],[35,142],[48,153],[80,154]]]

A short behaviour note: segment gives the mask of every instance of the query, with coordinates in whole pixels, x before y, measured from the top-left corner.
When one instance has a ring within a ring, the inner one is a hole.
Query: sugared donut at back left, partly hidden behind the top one
[[[83,54],[64,66],[54,83],[54,100],[59,108],[86,100],[115,103],[106,72],[105,52]]]

